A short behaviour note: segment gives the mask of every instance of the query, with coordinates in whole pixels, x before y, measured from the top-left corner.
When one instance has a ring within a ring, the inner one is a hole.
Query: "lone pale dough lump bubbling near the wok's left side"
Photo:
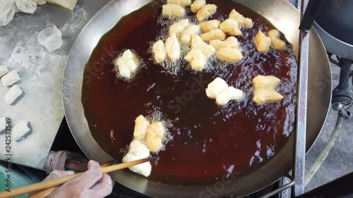
[[[114,66],[122,78],[130,79],[138,68],[138,58],[128,49],[116,58]]]

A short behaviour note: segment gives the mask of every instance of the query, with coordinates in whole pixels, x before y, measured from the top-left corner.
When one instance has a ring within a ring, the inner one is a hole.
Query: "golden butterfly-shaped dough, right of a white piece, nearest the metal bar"
[[[280,101],[284,97],[275,91],[275,87],[280,83],[280,79],[275,76],[258,75],[253,78],[255,92],[253,94],[253,101],[257,104],[265,104]]]

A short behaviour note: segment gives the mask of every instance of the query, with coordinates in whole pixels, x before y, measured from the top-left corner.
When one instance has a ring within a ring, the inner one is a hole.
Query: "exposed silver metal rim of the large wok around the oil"
[[[238,0],[267,18],[275,27],[282,31],[292,43],[295,54],[299,50],[299,20],[300,13],[287,1],[278,0]],[[71,49],[64,73],[63,99],[64,110],[73,137],[83,152],[90,158],[100,162],[109,161],[109,156],[93,139],[81,103],[83,85],[83,70],[92,50],[102,35],[109,31],[122,16],[150,3],[148,0],[123,1],[114,0],[102,8],[88,25],[82,30]],[[298,56],[297,56],[298,57]],[[325,48],[316,32],[311,31],[310,61],[309,61],[309,92],[308,120],[306,133],[306,149],[309,150],[318,137],[330,106],[331,75]],[[230,183],[218,184],[217,196],[242,196],[261,190],[275,182],[286,171],[294,166],[294,132],[289,143],[278,152],[272,160],[257,171]],[[207,187],[163,185],[148,180],[127,170],[112,173],[112,178],[122,185],[152,197],[211,197]],[[221,190],[219,190],[221,189]],[[215,196],[216,194],[212,194]]]

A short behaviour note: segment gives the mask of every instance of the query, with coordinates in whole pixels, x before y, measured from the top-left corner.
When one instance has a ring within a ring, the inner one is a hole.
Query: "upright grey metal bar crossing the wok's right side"
[[[301,1],[301,20],[309,0]],[[297,132],[295,134],[295,153],[297,156],[294,166],[294,196],[304,194],[305,153],[306,153],[306,106],[308,93],[309,72],[309,30],[300,31],[299,41],[299,79],[297,98]],[[293,193],[292,193],[293,194]]]

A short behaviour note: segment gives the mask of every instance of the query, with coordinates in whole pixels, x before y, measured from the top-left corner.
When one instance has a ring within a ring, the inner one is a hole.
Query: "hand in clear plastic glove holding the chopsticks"
[[[53,171],[45,180],[73,175],[73,171]],[[64,183],[49,194],[48,198],[103,198],[107,197],[114,182],[107,173],[102,174],[100,164],[96,161],[88,162],[88,171],[80,177]]]

